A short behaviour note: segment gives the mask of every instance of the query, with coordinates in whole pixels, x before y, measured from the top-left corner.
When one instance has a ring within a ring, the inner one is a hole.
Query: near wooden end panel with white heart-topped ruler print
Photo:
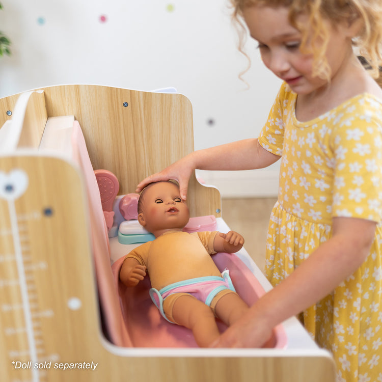
[[[107,343],[101,338],[79,173],[61,159],[41,156],[0,157],[0,169],[2,186],[18,193],[7,199],[6,188],[0,188],[0,380],[334,382],[333,360],[318,350],[312,357],[304,350],[200,350],[203,356],[180,350],[166,356],[166,349],[158,349],[154,357]],[[13,362],[50,367],[16,369]],[[62,369],[64,363],[92,362],[95,370]]]

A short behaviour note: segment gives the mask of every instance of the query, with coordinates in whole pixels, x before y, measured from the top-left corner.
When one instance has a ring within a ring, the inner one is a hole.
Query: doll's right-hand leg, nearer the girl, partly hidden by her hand
[[[215,298],[219,298],[219,294]],[[213,303],[213,301],[212,301]],[[236,293],[224,294],[215,306],[216,316],[219,317],[228,326],[232,325],[245,313],[247,313],[249,307],[241,297]]]

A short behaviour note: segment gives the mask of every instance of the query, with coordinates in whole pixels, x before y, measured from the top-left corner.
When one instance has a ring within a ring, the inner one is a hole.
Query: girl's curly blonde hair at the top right
[[[352,22],[360,18],[362,28],[359,36],[353,39],[371,66],[370,74],[377,78],[379,66],[382,63],[382,1],[381,0],[230,0],[233,6],[233,19],[239,25],[239,49],[245,54],[243,44],[245,39],[245,24],[242,18],[243,10],[251,6],[287,7],[289,22],[302,32],[301,49],[307,45],[308,30],[297,22],[297,16],[305,14],[309,17],[313,36],[310,47],[313,53],[313,75],[330,78],[330,67],[325,58],[326,46],[330,34],[325,27],[325,20],[333,25],[339,22]],[[247,56],[248,58],[248,56]]]

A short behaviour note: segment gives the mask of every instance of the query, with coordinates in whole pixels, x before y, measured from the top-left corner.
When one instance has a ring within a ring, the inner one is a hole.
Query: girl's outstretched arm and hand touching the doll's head
[[[253,170],[276,162],[280,156],[260,146],[257,139],[247,139],[209,149],[194,151],[159,173],[138,184],[140,192],[147,184],[159,180],[174,179],[179,183],[180,196],[187,197],[188,180],[194,170]]]

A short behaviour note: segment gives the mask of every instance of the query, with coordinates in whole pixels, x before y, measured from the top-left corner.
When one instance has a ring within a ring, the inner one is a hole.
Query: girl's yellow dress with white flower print
[[[274,286],[290,275],[331,237],[334,216],[378,222],[362,266],[301,320],[333,353],[338,381],[382,382],[382,100],[361,94],[309,122],[295,101],[283,84],[259,136],[282,155],[266,275]]]

